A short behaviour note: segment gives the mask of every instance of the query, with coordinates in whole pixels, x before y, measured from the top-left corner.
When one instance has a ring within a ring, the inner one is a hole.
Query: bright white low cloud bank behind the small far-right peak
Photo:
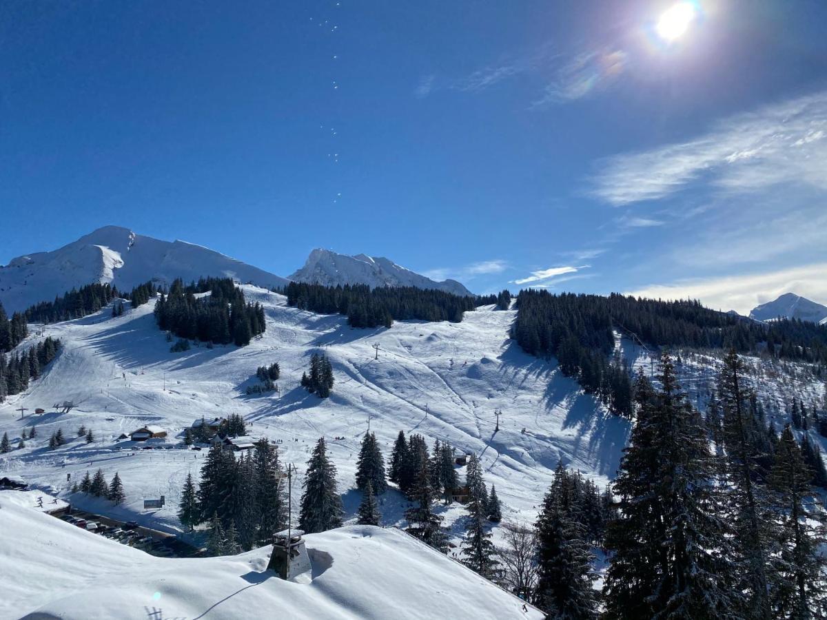
[[[746,315],[759,303],[772,301],[782,293],[797,293],[814,302],[827,303],[827,263],[760,274],[653,284],[626,294],[662,299],[700,299],[709,308],[735,310]]]

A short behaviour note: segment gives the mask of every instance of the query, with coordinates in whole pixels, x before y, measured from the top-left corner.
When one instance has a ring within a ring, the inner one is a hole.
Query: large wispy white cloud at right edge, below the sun
[[[827,189],[827,91],[729,117],[695,140],[615,155],[600,168],[590,193],[614,206],[666,198],[702,179],[727,194]]]

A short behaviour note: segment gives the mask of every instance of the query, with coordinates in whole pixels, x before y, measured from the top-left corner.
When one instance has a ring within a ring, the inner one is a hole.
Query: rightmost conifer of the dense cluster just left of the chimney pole
[[[279,465],[279,454],[266,439],[256,442],[253,465],[259,511],[258,541],[266,545],[273,540],[275,532],[280,532],[287,523],[284,475]]]

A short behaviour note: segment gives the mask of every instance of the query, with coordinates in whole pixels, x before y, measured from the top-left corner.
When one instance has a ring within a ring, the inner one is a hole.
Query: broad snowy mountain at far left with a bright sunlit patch
[[[130,290],[155,280],[170,284],[201,276],[230,276],[264,288],[287,280],[186,241],[160,241],[128,228],[108,226],[50,252],[19,256],[0,267],[0,302],[7,312],[50,301],[93,282]]]

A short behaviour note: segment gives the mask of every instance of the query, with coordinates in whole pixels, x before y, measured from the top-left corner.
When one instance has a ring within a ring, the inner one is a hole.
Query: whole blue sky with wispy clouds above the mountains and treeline
[[[106,224],[277,274],[827,302],[827,4],[9,2],[0,263]]]

